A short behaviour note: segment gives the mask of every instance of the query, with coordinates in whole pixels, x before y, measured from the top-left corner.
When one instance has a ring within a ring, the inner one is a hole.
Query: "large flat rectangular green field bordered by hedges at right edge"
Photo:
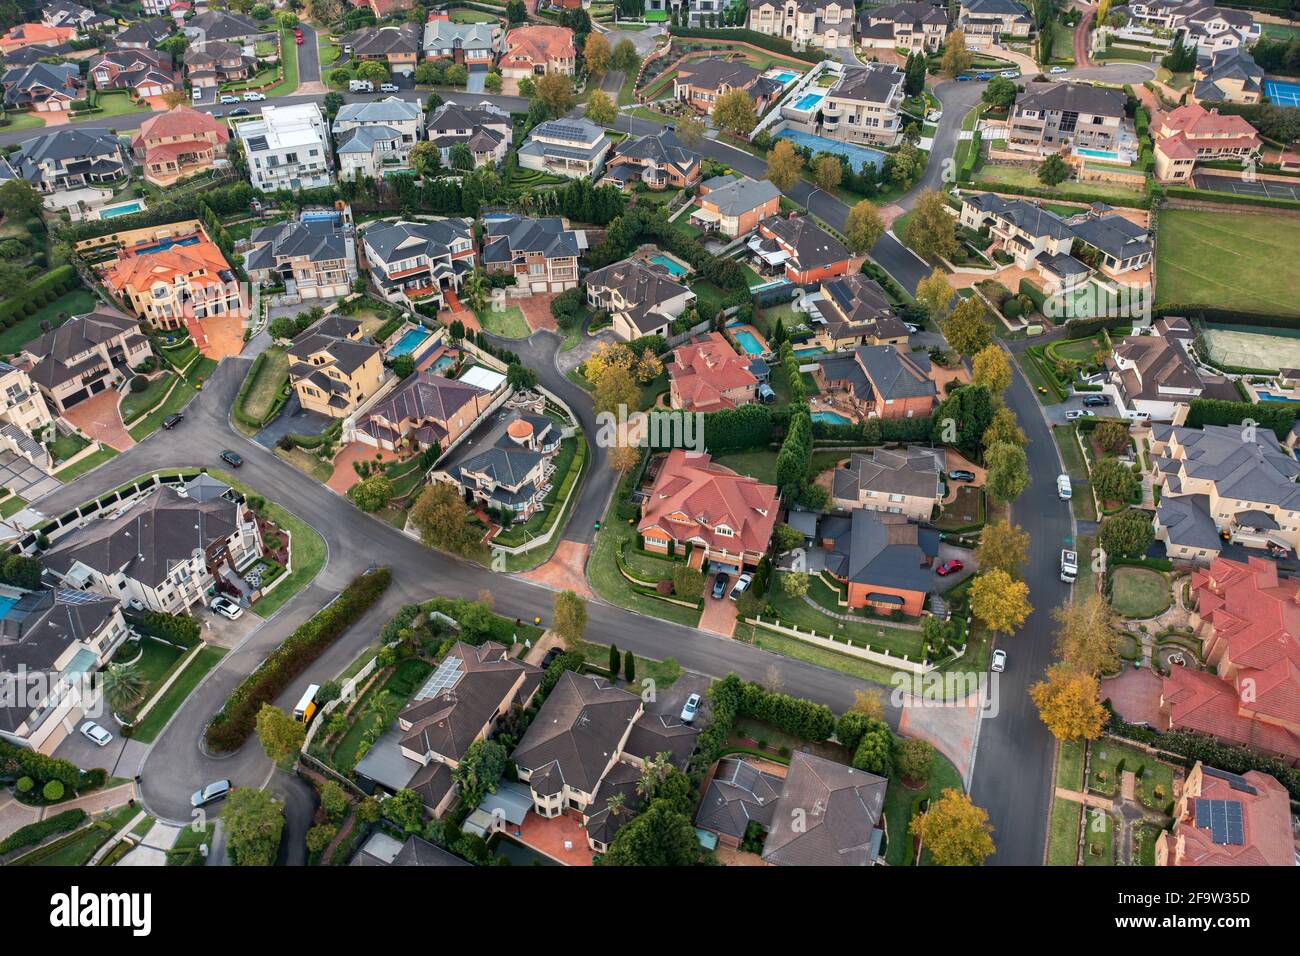
[[[1200,209],[1160,213],[1156,304],[1231,303],[1232,308],[1300,315],[1290,261],[1300,219],[1266,212],[1230,215]]]

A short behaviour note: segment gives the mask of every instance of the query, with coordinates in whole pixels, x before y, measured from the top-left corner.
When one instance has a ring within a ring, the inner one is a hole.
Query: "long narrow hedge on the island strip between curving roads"
[[[257,711],[289,687],[312,661],[384,596],[393,580],[386,567],[360,574],[308,620],[302,623],[261,665],[244,678],[208,723],[204,739],[216,750],[234,750],[248,739]]]

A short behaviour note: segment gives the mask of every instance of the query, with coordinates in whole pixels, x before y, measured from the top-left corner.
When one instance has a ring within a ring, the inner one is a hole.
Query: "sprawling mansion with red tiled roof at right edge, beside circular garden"
[[[1191,589],[1190,623],[1214,670],[1175,666],[1164,678],[1169,727],[1300,765],[1300,579],[1265,558],[1216,558],[1192,571]]]

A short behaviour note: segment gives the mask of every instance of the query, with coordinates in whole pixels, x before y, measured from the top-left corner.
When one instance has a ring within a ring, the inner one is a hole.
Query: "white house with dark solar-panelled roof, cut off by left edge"
[[[0,617],[0,740],[53,753],[92,702],[87,680],[130,631],[117,597],[5,587]],[[44,698],[32,704],[35,692]]]

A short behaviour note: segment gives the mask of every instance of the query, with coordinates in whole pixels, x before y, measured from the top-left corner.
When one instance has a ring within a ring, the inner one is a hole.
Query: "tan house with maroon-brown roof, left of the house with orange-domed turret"
[[[428,369],[416,372],[367,410],[356,437],[389,451],[446,449],[473,428],[497,394]]]

